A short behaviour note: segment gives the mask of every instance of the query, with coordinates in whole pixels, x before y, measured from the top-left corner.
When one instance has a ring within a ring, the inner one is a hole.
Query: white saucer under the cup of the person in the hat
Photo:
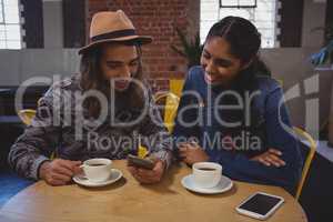
[[[118,181],[121,178],[122,178],[122,172],[118,169],[112,169],[111,175],[110,175],[109,180],[107,180],[107,181],[94,182],[94,181],[89,180],[88,178],[85,178],[82,174],[74,175],[73,181],[80,185],[84,185],[84,186],[89,186],[89,188],[99,188],[99,186],[104,186],[104,185],[114,183],[115,181]]]

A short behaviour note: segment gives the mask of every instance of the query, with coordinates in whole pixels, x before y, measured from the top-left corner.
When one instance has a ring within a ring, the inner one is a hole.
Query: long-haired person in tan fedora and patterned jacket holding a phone
[[[81,73],[49,89],[32,124],[11,148],[9,162],[26,178],[64,185],[81,161],[124,159],[137,151],[138,138],[150,135],[154,169],[129,170],[142,183],[158,182],[171,155],[169,135],[142,77],[141,46],[152,40],[137,36],[121,10],[94,14],[90,38],[79,51]],[[57,159],[50,160],[53,152]]]

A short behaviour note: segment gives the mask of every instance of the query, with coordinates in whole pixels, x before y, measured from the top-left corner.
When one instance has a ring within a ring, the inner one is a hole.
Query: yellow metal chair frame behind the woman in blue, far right
[[[303,170],[302,170],[301,180],[299,182],[297,190],[296,190],[295,199],[299,200],[300,196],[301,196],[301,193],[302,193],[304,182],[307,178],[307,173],[309,173],[309,170],[310,170],[310,167],[311,167],[311,162],[312,162],[313,157],[315,154],[316,142],[313,140],[313,138],[307,132],[303,131],[302,129],[294,127],[293,130],[294,130],[295,134],[300,137],[300,139],[306,140],[306,142],[307,142],[306,144],[310,147],[310,151],[309,151],[307,157],[305,159]]]

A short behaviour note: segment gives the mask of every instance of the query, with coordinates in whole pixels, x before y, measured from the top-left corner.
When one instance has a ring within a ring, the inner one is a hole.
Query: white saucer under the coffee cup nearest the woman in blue
[[[216,194],[229,191],[233,182],[229,178],[222,175],[219,184],[214,188],[198,188],[193,181],[193,174],[189,174],[182,179],[182,185],[193,192],[203,193],[203,194]]]

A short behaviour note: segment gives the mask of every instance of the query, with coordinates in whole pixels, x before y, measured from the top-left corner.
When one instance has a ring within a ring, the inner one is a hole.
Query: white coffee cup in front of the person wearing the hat
[[[93,182],[103,182],[111,175],[111,160],[97,158],[84,161],[80,168],[83,169],[83,172],[89,180]]]

